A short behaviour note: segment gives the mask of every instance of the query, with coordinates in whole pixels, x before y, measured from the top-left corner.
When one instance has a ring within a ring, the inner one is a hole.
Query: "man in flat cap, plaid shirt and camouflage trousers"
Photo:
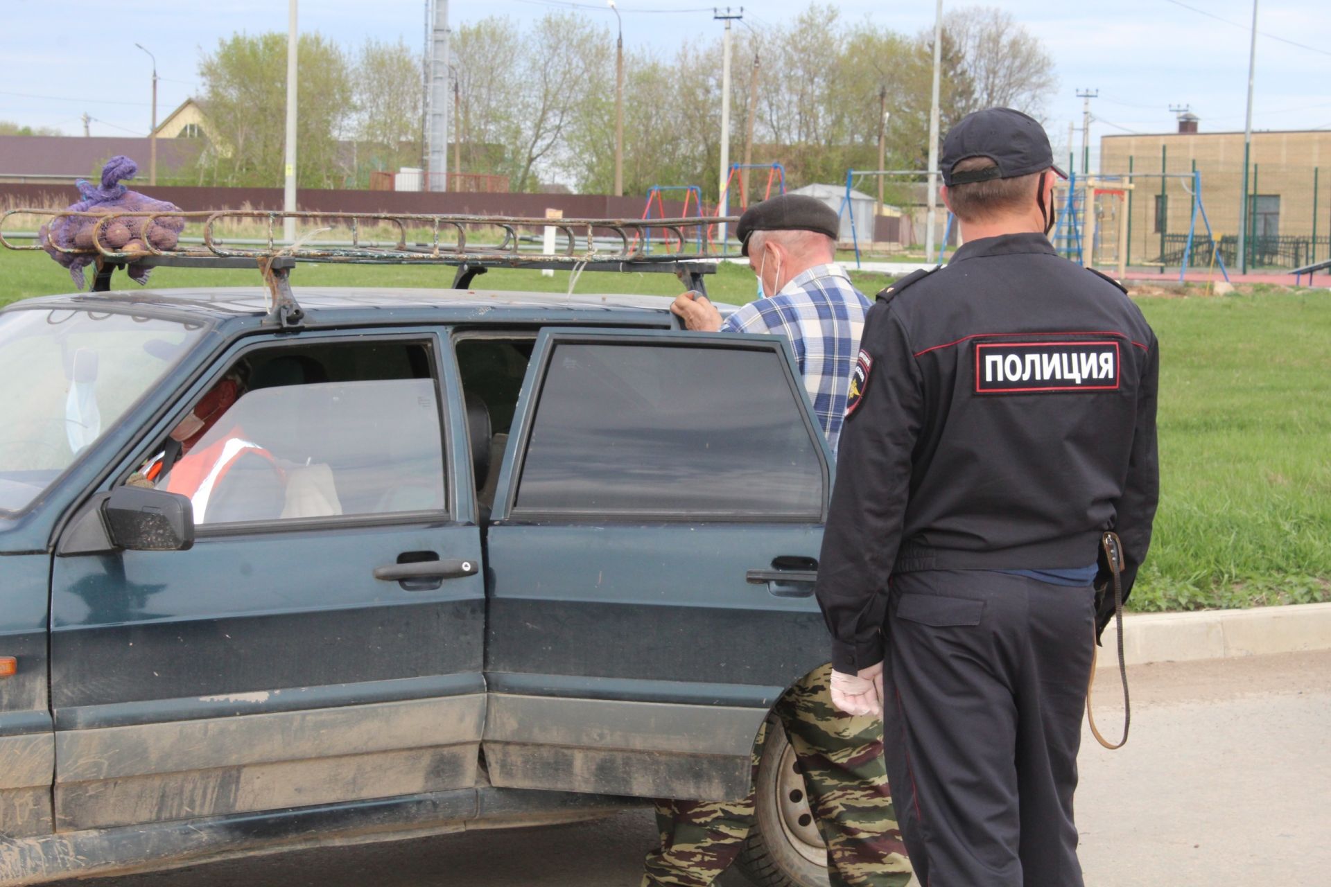
[[[736,234],[767,297],[724,322],[695,293],[671,306],[689,330],[787,336],[833,452],[869,307],[835,262],[837,223],[837,214],[812,197],[757,203],[740,217]],[[902,887],[910,866],[882,763],[882,725],[877,717],[837,711],[829,680],[829,665],[817,669],[775,711],[800,759],[809,807],[828,846],[831,884]],[[643,886],[707,887],[744,848],[753,794],[735,802],[660,802],[656,821],[662,843],[647,855]]]

